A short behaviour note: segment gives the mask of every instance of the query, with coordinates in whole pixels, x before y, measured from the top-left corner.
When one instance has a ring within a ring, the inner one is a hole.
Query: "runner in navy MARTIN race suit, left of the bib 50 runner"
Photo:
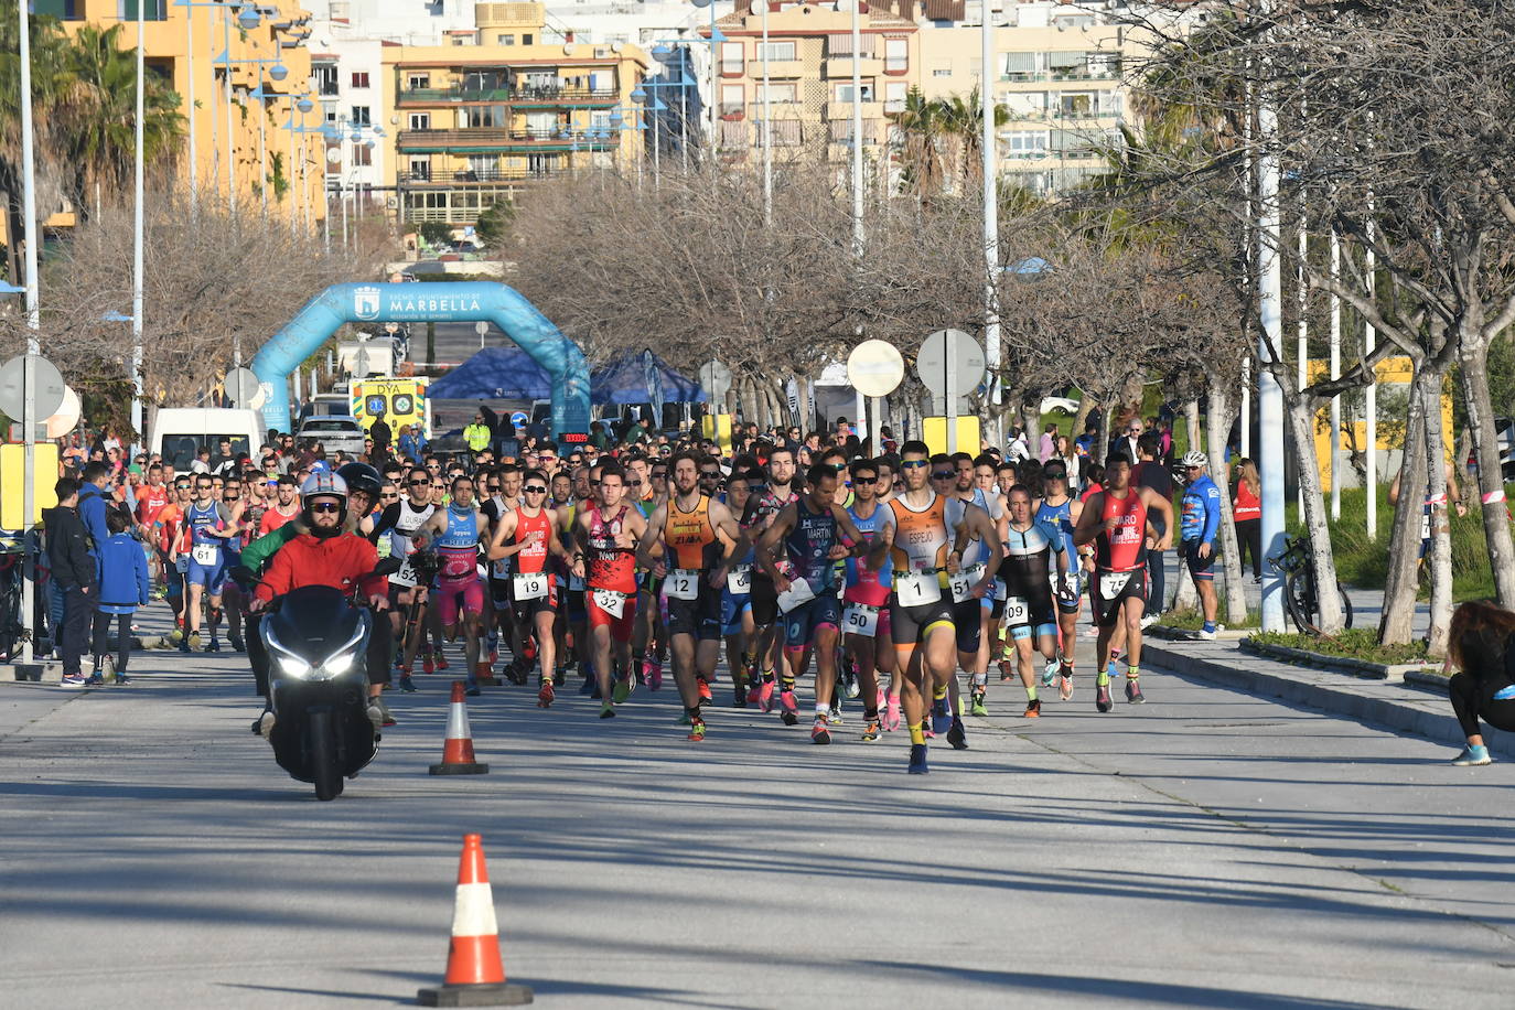
[[[783,612],[783,641],[789,669],[783,692],[779,695],[783,722],[785,725],[798,722],[794,678],[804,675],[814,650],[815,724],[811,728],[811,742],[830,743],[829,716],[832,692],[836,687],[836,642],[841,637],[841,607],[833,586],[835,563],[847,556],[864,554],[870,544],[853,525],[845,509],[833,501],[838,485],[836,468],[830,463],[815,463],[806,471],[804,479],[804,497],[785,506],[758,541],[758,565],[773,580],[774,604]],[[774,557],[780,544],[786,553],[782,565]],[[870,559],[874,569],[883,563],[883,541],[876,539]]]

